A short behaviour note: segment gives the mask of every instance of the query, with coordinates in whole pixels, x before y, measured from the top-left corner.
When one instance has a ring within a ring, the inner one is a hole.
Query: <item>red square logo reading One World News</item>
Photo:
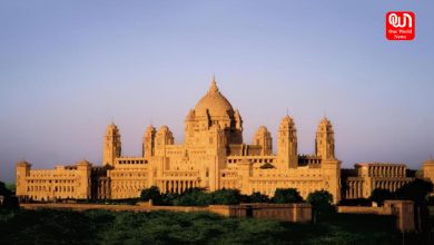
[[[388,40],[413,40],[416,17],[411,11],[392,11],[386,13],[386,38]]]

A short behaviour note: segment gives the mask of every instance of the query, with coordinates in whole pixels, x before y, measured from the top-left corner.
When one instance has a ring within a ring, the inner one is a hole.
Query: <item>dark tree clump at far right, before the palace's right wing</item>
[[[420,178],[411,182],[395,192],[398,199],[410,199],[416,204],[426,203],[427,195],[433,193],[433,184]]]

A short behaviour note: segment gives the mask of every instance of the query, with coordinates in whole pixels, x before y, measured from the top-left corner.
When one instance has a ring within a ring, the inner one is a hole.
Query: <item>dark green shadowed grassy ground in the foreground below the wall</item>
[[[1,244],[401,244],[393,217],[328,214],[317,224],[210,213],[2,210]]]

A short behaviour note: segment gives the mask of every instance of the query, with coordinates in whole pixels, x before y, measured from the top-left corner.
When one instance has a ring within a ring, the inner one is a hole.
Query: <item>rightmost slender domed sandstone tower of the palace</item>
[[[323,118],[316,130],[315,151],[323,159],[335,159],[335,133],[327,118]]]

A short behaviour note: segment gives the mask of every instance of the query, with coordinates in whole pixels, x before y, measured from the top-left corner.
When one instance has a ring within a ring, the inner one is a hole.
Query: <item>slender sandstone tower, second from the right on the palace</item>
[[[277,159],[283,166],[295,168],[298,166],[297,129],[293,118],[288,115],[282,120],[277,139]]]

